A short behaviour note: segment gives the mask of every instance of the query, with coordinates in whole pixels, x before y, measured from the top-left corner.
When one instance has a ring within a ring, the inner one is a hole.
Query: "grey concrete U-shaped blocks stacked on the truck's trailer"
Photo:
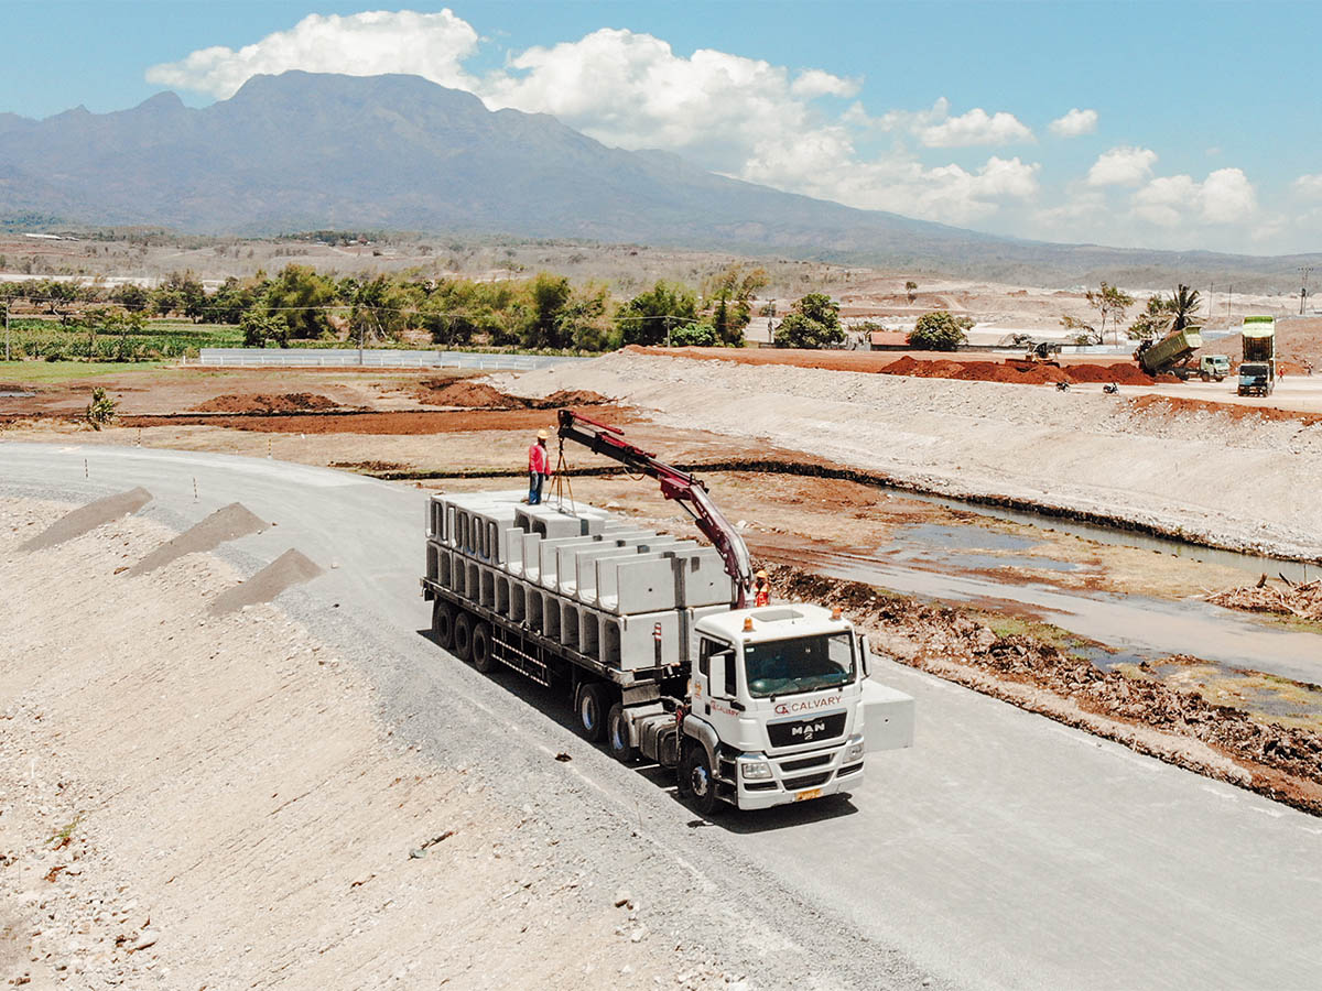
[[[693,625],[728,609],[715,550],[592,506],[526,506],[522,492],[434,495],[427,576],[591,661],[650,669],[687,661]]]

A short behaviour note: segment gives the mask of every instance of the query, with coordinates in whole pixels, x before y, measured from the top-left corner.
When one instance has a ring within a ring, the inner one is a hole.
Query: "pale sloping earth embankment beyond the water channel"
[[[1322,559],[1322,423],[1153,396],[615,353],[501,377],[590,388],[662,424],[812,452],[919,490]]]

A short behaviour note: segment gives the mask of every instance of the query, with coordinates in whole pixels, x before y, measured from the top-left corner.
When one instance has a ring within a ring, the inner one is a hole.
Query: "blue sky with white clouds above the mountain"
[[[1322,250],[1317,4],[374,9],[0,0],[0,111],[165,89],[205,106],[290,67],[411,71],[854,206],[1051,240]]]

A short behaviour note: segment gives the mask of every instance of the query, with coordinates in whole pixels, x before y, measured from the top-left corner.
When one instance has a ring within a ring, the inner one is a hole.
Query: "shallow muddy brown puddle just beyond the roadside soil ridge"
[[[801,554],[806,566],[834,577],[1050,622],[1105,645],[1108,650],[1087,651],[1101,667],[1192,654],[1224,669],[1247,667],[1322,682],[1322,636],[1315,633],[1273,629],[1195,599],[1167,601],[970,573],[986,569],[988,562],[993,568],[1003,568],[1017,559],[1022,559],[1021,567],[1038,569],[1079,567],[1017,554],[1034,544],[1027,538],[976,526],[921,525],[898,531],[892,544],[874,554],[820,547],[804,548]]]

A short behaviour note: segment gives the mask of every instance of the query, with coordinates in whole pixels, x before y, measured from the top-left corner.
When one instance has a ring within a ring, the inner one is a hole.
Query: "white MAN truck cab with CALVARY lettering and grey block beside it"
[[[867,752],[912,744],[914,699],[867,680],[867,641],[838,609],[736,609],[695,637],[678,774],[699,809],[836,794]]]

